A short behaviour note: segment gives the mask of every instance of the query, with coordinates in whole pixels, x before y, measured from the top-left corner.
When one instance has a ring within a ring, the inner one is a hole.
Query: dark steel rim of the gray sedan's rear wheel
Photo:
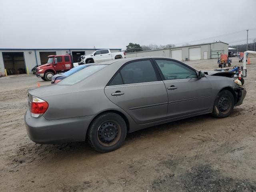
[[[121,127],[114,120],[103,122],[97,130],[98,142],[106,147],[113,146],[121,137]]]

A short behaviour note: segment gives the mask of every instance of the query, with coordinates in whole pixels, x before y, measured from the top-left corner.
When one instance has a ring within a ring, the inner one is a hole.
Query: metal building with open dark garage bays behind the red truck
[[[91,54],[98,49],[0,49],[0,71],[8,75],[31,74],[31,70],[36,65],[46,64],[48,55],[62,55],[71,53],[73,62],[77,62],[78,57]],[[119,52],[121,49],[110,49],[111,52]]]

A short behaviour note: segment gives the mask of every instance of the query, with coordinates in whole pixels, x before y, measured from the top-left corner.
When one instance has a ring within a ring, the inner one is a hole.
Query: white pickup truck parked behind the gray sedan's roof
[[[94,51],[92,54],[82,55],[81,58],[82,58],[81,62],[87,64],[87,63],[102,62],[102,61],[108,61],[108,60],[114,60],[114,59],[122,59],[122,58],[126,58],[126,56],[124,52],[111,53],[109,49],[100,49],[100,50]]]

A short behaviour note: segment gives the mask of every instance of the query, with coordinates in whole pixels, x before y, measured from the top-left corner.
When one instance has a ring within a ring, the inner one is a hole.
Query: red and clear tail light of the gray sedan
[[[40,98],[32,96],[31,102],[31,115],[32,117],[38,118],[46,112],[48,109],[48,103]]]

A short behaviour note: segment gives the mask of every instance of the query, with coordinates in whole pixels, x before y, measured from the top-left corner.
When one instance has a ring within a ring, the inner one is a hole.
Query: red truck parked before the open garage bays
[[[58,73],[66,72],[74,67],[72,56],[66,55],[49,55],[48,62],[36,68],[36,76],[45,81],[51,81],[52,76]]]

